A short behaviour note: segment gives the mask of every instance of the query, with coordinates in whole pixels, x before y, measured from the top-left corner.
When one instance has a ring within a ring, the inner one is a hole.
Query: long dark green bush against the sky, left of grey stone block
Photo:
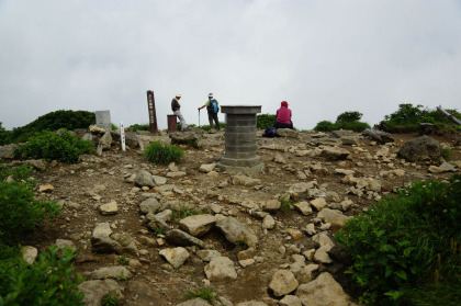
[[[40,116],[27,125],[13,128],[11,140],[23,143],[42,131],[58,131],[59,128],[74,131],[76,128],[88,128],[92,124],[95,124],[93,112],[59,110]]]

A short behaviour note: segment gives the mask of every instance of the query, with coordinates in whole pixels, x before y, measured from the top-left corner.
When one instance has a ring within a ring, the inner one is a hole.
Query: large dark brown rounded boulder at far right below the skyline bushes
[[[423,136],[406,141],[397,155],[408,161],[438,160],[440,159],[440,144],[429,136]]]

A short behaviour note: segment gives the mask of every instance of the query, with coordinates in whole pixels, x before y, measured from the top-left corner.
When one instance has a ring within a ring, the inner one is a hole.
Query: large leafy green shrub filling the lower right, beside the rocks
[[[353,217],[336,235],[367,304],[398,305],[421,284],[460,286],[461,175],[416,182]]]

